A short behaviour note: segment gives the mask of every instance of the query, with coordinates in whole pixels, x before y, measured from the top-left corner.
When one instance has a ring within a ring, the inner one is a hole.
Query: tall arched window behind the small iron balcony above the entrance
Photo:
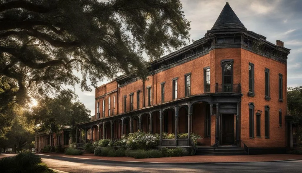
[[[233,59],[221,60],[222,92],[233,92]]]

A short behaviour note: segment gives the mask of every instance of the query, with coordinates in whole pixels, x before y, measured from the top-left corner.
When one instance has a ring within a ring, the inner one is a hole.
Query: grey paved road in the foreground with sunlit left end
[[[201,163],[201,164],[156,164],[135,162],[100,161],[93,159],[63,158],[41,155],[50,168],[74,173],[98,172],[302,172],[302,160],[253,163]],[[169,158],[167,158],[169,159]],[[181,159],[181,158],[180,158]]]

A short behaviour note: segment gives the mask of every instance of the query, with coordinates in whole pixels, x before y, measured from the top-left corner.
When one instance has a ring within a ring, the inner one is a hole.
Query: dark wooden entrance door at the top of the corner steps
[[[234,144],[234,115],[223,114],[222,115],[222,144]]]

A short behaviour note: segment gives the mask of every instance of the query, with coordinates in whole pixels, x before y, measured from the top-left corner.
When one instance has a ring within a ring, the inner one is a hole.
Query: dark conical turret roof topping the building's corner
[[[232,10],[228,2],[224,5],[219,17],[217,18],[212,30],[216,29],[244,29],[244,25]]]

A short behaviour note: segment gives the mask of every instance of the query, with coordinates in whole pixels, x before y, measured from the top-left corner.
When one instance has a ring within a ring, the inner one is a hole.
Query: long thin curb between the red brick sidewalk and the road
[[[51,156],[51,155],[49,155]],[[99,160],[108,162],[130,162],[130,163],[152,163],[152,164],[198,164],[198,163],[255,163],[255,162],[281,162],[281,161],[297,161],[302,159],[287,159],[287,160],[272,160],[272,161],[204,161],[204,162],[152,162],[152,161],[120,161],[120,160],[104,160],[97,158],[81,158],[81,157],[69,157],[69,156],[54,156],[63,158],[78,158],[78,159],[89,159],[89,160]]]

